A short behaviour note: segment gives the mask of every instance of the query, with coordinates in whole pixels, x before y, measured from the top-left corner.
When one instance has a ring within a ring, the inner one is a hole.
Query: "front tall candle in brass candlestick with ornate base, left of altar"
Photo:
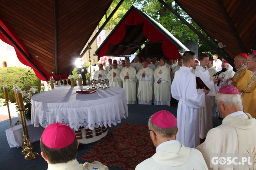
[[[21,91],[17,92],[17,98],[18,98],[18,103],[19,103],[19,113],[20,113],[20,117],[22,119],[24,143],[26,141],[26,147],[22,150],[22,153],[26,154],[25,159],[27,159],[27,160],[35,159],[38,157],[38,153],[33,152],[34,148],[32,147],[32,144],[29,140],[28,127],[27,127],[26,116],[25,116],[25,112],[24,112],[27,108],[25,108],[25,106],[24,106]],[[25,146],[25,144],[24,144],[24,146]]]

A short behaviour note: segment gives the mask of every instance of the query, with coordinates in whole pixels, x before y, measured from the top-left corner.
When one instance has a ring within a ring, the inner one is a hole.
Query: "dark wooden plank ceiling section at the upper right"
[[[256,49],[255,0],[175,1],[231,58]]]

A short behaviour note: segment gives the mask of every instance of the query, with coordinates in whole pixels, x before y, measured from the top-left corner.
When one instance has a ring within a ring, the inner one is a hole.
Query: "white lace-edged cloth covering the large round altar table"
[[[84,86],[88,88],[88,86]],[[128,117],[125,90],[120,87],[98,89],[92,94],[77,94],[80,87],[63,86],[41,92],[31,98],[31,121],[46,128],[61,122],[74,130],[80,126],[93,130],[98,126],[116,125]]]

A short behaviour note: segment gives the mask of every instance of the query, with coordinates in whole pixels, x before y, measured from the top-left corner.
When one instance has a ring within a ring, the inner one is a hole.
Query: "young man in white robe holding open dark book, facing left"
[[[218,92],[217,79],[211,81],[209,71],[206,66],[209,63],[209,55],[201,53],[198,55],[200,65],[196,67],[195,76],[199,77],[204,84],[211,90],[208,95],[205,96],[205,107],[199,109],[199,136],[204,139],[207,132],[212,129],[212,103],[211,96],[216,96]],[[198,89],[201,92],[201,89]]]

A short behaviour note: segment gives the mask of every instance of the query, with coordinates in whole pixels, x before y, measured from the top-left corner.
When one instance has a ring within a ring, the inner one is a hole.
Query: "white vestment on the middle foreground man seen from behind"
[[[188,148],[177,140],[169,140],[161,143],[156,153],[136,166],[135,170],[184,170],[200,169],[207,170],[207,165],[202,154]]]

